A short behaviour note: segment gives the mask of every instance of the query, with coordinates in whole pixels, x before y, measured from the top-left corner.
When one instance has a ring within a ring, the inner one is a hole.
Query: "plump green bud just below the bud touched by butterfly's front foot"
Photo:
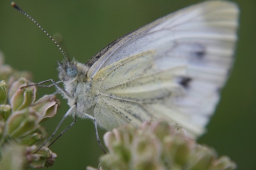
[[[39,116],[32,108],[16,111],[6,122],[5,135],[18,138],[37,129]]]

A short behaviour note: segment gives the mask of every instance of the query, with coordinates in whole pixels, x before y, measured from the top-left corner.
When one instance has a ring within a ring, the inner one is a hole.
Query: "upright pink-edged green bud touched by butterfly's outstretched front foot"
[[[28,82],[24,78],[20,78],[14,82],[9,91],[10,104],[12,111],[20,111],[34,103],[36,98],[36,87],[20,88],[27,86]]]

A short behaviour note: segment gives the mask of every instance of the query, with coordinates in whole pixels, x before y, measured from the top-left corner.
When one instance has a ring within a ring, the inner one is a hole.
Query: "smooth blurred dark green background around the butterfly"
[[[5,63],[17,70],[33,73],[34,82],[58,80],[57,60],[62,60],[58,48],[51,43],[34,23],[10,6],[11,1],[0,1],[0,50]],[[111,41],[155,19],[180,8],[202,1],[167,0],[17,0],[51,35],[61,33],[68,52],[85,63]],[[256,1],[234,1],[241,8],[239,41],[234,70],[222,91],[216,113],[207,126],[208,132],[200,139],[228,155],[238,169],[256,169]],[[38,89],[39,96],[52,89]],[[59,97],[61,98],[61,96]],[[57,116],[44,125],[50,133],[68,106],[62,106]],[[65,128],[72,118],[68,118]],[[100,130],[100,136],[105,131]],[[51,148],[58,154],[51,169],[85,169],[98,167],[103,154],[95,139],[93,123],[78,120]]]

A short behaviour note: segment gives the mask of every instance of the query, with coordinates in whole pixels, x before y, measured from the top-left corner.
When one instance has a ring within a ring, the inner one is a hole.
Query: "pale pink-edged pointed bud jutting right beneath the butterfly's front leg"
[[[57,113],[60,107],[60,101],[56,96],[45,95],[37,100],[32,107],[39,114],[42,122],[47,118],[53,117]]]

